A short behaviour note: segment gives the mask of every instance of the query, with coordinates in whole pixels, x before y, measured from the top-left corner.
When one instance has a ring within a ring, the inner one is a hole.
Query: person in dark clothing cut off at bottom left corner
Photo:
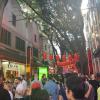
[[[3,73],[0,71],[0,100],[11,100],[10,94],[3,87]]]

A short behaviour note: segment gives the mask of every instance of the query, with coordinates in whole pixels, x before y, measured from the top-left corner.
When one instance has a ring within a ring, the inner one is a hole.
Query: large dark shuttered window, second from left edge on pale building
[[[16,49],[25,51],[25,41],[16,37]]]

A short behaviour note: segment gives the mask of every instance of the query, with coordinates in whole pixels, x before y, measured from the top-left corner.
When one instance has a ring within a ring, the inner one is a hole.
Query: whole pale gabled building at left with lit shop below
[[[5,76],[25,74],[28,47],[32,50],[31,61],[34,57],[38,60],[41,41],[37,26],[24,19],[16,0],[8,0],[0,33],[0,68]]]

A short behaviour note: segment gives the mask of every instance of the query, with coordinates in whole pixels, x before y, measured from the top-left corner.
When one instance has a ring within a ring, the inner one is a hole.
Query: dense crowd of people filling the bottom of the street
[[[0,100],[100,100],[100,73],[43,74],[41,81],[34,74],[30,82],[21,75],[12,82],[0,72]]]

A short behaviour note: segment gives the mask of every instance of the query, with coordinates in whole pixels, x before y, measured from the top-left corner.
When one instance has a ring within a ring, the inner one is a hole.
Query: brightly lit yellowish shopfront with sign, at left
[[[4,76],[6,78],[18,77],[25,75],[25,65],[17,62],[2,60],[1,66],[3,68]]]

